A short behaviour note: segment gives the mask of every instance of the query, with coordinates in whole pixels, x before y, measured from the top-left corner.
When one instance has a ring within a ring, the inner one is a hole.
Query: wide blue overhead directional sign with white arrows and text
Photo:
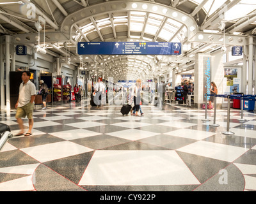
[[[164,42],[83,42],[79,55],[180,55],[181,43]]]

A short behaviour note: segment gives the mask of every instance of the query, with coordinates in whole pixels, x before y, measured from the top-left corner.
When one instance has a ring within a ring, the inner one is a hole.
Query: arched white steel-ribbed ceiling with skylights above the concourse
[[[212,40],[215,35],[220,38],[225,32],[226,36],[232,36],[235,41],[229,45],[254,35],[255,10],[253,0],[3,0],[0,33],[11,34],[35,47],[38,44],[35,23],[41,16],[45,27],[41,22],[40,36],[45,31],[46,38],[42,45],[40,37],[40,44],[47,48],[47,54],[61,57],[61,62],[70,59],[78,67],[83,62],[84,69],[101,77],[149,79],[169,73],[177,64],[186,64],[196,52],[220,48],[223,42]],[[225,23],[224,30],[220,30],[221,23]],[[211,38],[200,39],[199,35],[204,37],[205,33],[211,34]],[[183,46],[182,55],[177,57],[79,56],[76,43],[81,41],[175,41]]]

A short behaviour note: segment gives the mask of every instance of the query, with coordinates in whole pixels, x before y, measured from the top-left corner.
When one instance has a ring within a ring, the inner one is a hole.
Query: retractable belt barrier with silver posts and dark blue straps
[[[243,110],[244,110],[244,105],[243,105],[243,101],[256,101],[255,99],[255,95],[215,95],[215,94],[205,94],[206,98],[208,96],[214,96],[214,121],[213,124],[210,124],[210,126],[212,127],[219,127],[220,125],[216,124],[216,98],[227,98],[228,99],[228,113],[227,113],[227,131],[222,132],[223,135],[234,135],[233,132],[229,131],[230,128],[230,99],[240,99],[242,102],[242,107],[241,107],[241,119],[238,119],[241,122],[246,121],[246,119],[243,118]],[[207,119],[207,100],[205,100],[205,119],[202,119],[204,121],[210,121],[209,119]]]

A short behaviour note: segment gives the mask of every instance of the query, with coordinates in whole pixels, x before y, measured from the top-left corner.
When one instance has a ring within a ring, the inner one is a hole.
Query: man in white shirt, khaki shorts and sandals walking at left
[[[24,136],[32,135],[32,128],[34,124],[33,120],[33,109],[34,109],[34,102],[36,98],[36,86],[33,84],[29,77],[31,76],[29,71],[22,72],[22,83],[19,87],[19,98],[17,103],[15,104],[15,108],[17,108],[17,112],[15,118],[19,124],[20,132],[15,136],[24,135],[24,126],[22,117],[28,117],[28,124],[29,129],[28,132]]]

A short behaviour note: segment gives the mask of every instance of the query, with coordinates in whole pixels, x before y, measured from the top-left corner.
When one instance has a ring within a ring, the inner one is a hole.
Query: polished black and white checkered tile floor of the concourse
[[[166,104],[142,106],[141,117],[120,106],[76,103],[35,110],[33,135],[8,140],[0,152],[0,191],[255,191],[256,114]],[[15,112],[1,123],[19,132]],[[24,119],[28,126],[28,120]]]

